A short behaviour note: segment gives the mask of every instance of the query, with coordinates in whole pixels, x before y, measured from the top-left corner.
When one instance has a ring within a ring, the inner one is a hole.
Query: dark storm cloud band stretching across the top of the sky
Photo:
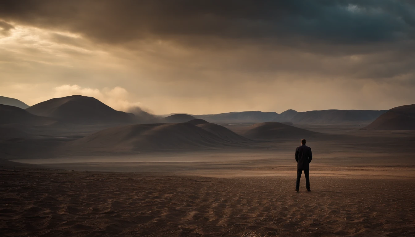
[[[210,37],[362,44],[414,39],[415,4],[397,0],[6,0],[0,17],[105,43]],[[183,38],[184,37],[184,38]],[[186,38],[189,37],[189,38]]]

